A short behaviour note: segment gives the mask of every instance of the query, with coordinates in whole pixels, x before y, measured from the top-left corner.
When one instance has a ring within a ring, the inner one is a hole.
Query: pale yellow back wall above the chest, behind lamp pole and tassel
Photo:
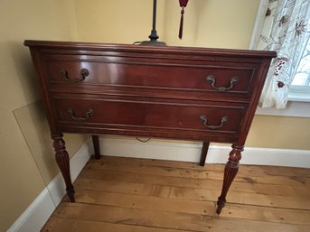
[[[80,41],[132,43],[148,40],[152,0],[75,0]],[[173,46],[249,47],[259,0],[192,0],[184,14],[183,40],[178,39],[181,8],[177,0],[157,1],[159,41]],[[246,10],[245,10],[246,9]]]

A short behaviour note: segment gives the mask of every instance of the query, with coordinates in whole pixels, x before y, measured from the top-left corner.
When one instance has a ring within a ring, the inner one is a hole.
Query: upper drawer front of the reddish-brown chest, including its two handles
[[[83,92],[91,93],[102,93],[105,87],[105,90],[114,91],[136,88],[139,95],[155,89],[156,97],[171,90],[186,96],[208,93],[208,96],[249,97],[257,75],[253,63],[151,61],[49,59],[46,61],[47,84],[50,89],[70,85],[70,89],[82,88]]]

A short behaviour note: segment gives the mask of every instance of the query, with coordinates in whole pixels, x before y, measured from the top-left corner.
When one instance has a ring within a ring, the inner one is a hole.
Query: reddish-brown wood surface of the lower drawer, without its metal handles
[[[230,142],[238,138],[241,121],[245,114],[245,106],[231,104],[230,107],[205,102],[186,102],[173,100],[163,102],[162,99],[145,101],[136,98],[96,98],[60,97],[52,99],[55,107],[55,120],[59,128],[66,130],[74,126],[89,134],[100,127],[108,134],[124,134],[124,130],[145,131],[146,129],[188,138],[188,135],[204,140],[207,136],[221,137],[221,141]],[[85,118],[83,122],[74,119],[68,109],[74,111],[74,117]],[[91,116],[87,112],[92,111]],[[219,125],[222,116],[228,116],[228,123],[218,130],[206,128],[200,116],[207,116],[211,125]],[[78,124],[77,124],[78,123]],[[141,130],[141,126],[143,129]],[[119,128],[118,128],[119,127]],[[179,131],[186,131],[185,137]],[[170,136],[170,135],[167,135]]]

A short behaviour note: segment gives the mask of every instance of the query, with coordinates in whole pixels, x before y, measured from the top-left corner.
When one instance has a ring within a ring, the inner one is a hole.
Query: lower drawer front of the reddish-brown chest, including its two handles
[[[100,128],[157,128],[189,133],[238,135],[243,105],[198,105],[187,102],[53,98],[59,125]]]

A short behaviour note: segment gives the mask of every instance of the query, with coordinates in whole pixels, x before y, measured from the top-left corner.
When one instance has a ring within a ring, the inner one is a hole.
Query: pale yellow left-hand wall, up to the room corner
[[[0,1],[0,231],[14,223],[58,172],[45,117],[35,107],[36,77],[23,40],[76,39],[72,5],[71,0]],[[71,153],[83,141],[69,140]]]

